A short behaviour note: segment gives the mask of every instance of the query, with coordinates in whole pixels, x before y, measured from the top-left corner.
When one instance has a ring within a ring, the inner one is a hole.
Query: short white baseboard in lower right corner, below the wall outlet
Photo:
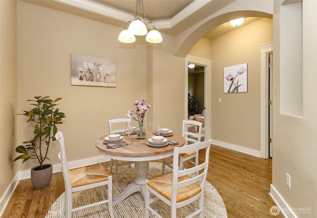
[[[285,218],[297,218],[292,208],[287,204],[284,198],[278,193],[278,191],[275,189],[273,184],[270,185],[269,195],[275,202],[276,206],[279,208],[280,213],[282,213]]]

